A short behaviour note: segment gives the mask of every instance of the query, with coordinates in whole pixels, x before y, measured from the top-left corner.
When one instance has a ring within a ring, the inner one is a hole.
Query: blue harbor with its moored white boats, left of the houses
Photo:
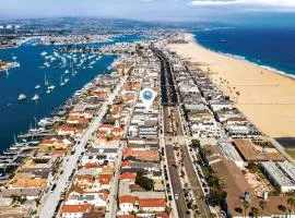
[[[141,38],[140,35],[130,35],[118,37],[114,41],[95,44],[95,46]],[[97,74],[109,72],[108,66],[116,58],[116,56],[81,53],[79,59],[74,53],[66,56],[61,52],[57,53],[55,48],[57,46],[25,44],[0,50],[0,59],[13,61],[13,53],[21,63],[20,68],[9,70],[9,74],[0,74],[0,150],[5,150],[13,144],[13,134],[23,135],[21,132],[27,131],[27,125],[34,117],[43,119],[55,113],[55,110],[63,105],[76,89],[82,88]],[[47,66],[44,65],[45,63]],[[62,110],[58,113],[62,113]]]

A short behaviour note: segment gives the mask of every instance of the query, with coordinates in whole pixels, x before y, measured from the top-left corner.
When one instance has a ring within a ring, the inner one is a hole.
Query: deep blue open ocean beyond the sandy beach
[[[295,76],[295,29],[237,27],[198,31],[194,34],[205,48]]]

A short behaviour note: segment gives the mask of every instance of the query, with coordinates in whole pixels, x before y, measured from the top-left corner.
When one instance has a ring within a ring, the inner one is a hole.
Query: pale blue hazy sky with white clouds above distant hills
[[[52,16],[285,25],[295,23],[295,0],[0,0],[0,19]]]

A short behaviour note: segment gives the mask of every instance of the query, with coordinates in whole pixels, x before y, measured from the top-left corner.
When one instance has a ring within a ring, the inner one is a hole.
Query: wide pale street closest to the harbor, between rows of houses
[[[103,116],[107,111],[107,106],[114,101],[115,97],[118,95],[119,90],[123,86],[126,80],[127,80],[127,75],[120,80],[119,84],[116,86],[113,94],[108,97],[108,100],[103,104],[103,107],[101,109],[98,117],[95,118],[95,120],[88,125],[88,128],[84,132],[83,136],[80,140],[80,144],[75,146],[75,154],[69,157],[69,160],[66,162],[63,167],[63,173],[60,174],[60,177],[56,181],[56,185],[57,185],[56,189],[54,190],[54,192],[49,192],[47,198],[45,199],[45,203],[43,204],[43,208],[39,213],[39,217],[42,218],[54,217],[56,207],[60,199],[60,194],[63,192],[66,187],[68,187],[67,181],[69,180],[70,174],[76,167],[76,161],[79,159],[79,156],[81,156],[81,154],[85,150],[84,146],[86,145],[87,141],[91,138],[92,133],[96,131],[98,124],[101,123]]]

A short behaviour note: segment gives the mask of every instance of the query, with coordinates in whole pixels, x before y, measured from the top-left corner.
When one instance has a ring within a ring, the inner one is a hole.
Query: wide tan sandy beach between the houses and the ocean
[[[295,136],[294,78],[210,51],[198,45],[192,35],[187,34],[186,37],[189,44],[173,44],[168,47],[203,71],[210,69],[210,77],[217,85],[221,84],[220,77],[226,80],[232,98],[237,97],[236,92],[240,93],[237,107],[267,135],[275,138]],[[229,93],[225,85],[222,87]]]

